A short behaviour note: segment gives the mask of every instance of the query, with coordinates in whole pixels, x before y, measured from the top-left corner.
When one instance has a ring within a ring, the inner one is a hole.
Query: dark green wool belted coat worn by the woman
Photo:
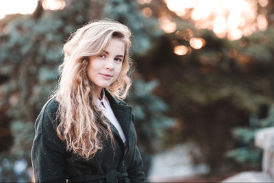
[[[127,153],[119,132],[110,123],[114,132],[115,153],[111,141],[103,143],[90,160],[84,160],[71,151],[66,151],[64,141],[56,133],[59,119],[56,111],[59,103],[49,99],[35,123],[35,138],[32,146],[32,165],[36,182],[144,182],[142,158],[136,147],[136,131],[132,106],[115,100],[105,91],[110,106],[127,139]]]

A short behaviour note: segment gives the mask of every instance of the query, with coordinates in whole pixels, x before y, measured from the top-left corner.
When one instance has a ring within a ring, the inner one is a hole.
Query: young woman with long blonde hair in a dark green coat
[[[77,29],[64,45],[58,90],[35,123],[36,182],[144,182],[132,106],[124,99],[131,32],[112,21]]]

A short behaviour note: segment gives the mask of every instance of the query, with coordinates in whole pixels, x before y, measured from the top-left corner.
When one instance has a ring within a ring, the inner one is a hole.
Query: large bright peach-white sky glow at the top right
[[[268,21],[258,14],[259,5],[266,7],[269,0],[164,0],[169,10],[182,19],[192,19],[199,29],[212,29],[219,37],[237,40],[264,31]],[[188,17],[187,17],[188,16]]]

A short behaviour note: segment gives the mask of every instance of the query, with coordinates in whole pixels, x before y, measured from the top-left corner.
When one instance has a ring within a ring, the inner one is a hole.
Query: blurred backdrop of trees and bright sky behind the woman
[[[77,27],[133,32],[138,147],[147,181],[219,182],[261,171],[254,132],[274,125],[271,0],[1,0],[0,182],[32,180],[34,122]]]

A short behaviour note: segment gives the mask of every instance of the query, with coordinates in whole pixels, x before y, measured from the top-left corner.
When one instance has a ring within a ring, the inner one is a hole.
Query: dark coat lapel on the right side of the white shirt
[[[124,103],[123,101],[120,101],[119,99],[114,99],[114,97],[112,97],[112,95],[105,88],[104,88],[104,91],[105,91],[105,97],[108,98],[112,111],[116,119],[119,121],[123,129],[123,132],[125,134],[125,138],[128,141],[129,125],[130,125],[130,121],[132,120],[132,106],[127,106],[127,104]],[[116,129],[114,130],[114,132],[116,134],[117,133],[119,134],[119,132]]]

